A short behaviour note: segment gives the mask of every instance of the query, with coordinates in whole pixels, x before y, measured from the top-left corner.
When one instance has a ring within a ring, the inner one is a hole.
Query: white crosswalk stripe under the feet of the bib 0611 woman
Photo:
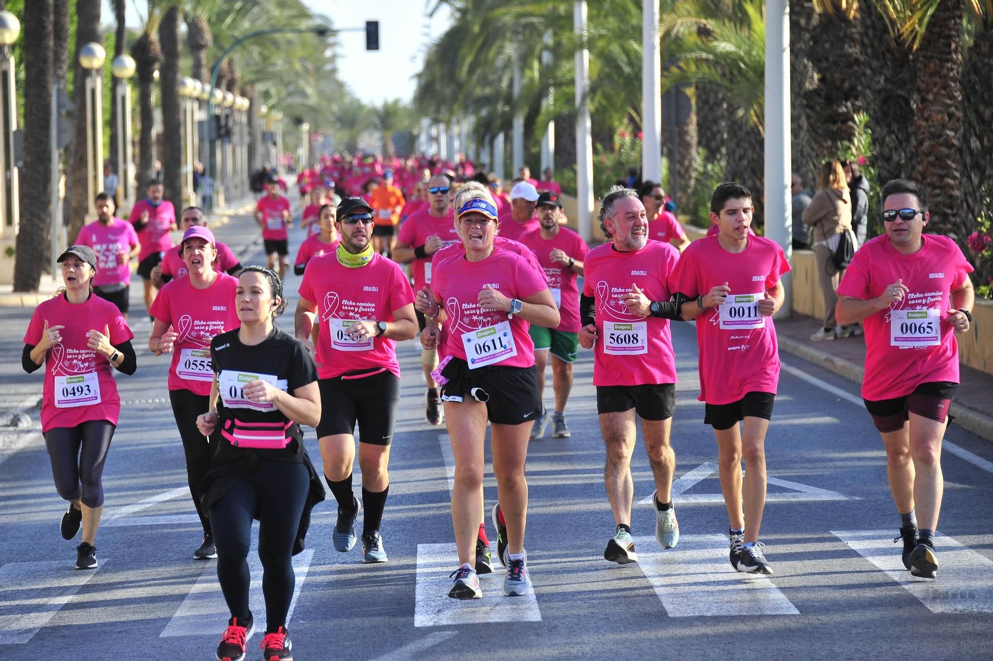
[[[531,590],[523,596],[503,595],[503,572],[480,577],[481,599],[453,599],[449,578],[459,564],[455,543],[417,545],[414,626],[452,626],[490,622],[540,622],[541,610]]]

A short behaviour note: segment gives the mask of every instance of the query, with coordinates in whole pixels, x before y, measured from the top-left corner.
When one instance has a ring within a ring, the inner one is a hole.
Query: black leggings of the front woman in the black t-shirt
[[[248,548],[251,522],[257,518],[266,628],[275,631],[286,626],[286,612],[296,585],[293,542],[309,489],[310,474],[304,463],[260,459],[251,472],[234,482],[211,506],[217,581],[232,617],[243,620],[251,614]]]

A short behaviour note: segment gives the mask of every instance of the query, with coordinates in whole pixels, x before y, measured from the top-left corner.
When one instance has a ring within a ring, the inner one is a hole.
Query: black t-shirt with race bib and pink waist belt
[[[317,381],[317,367],[310,353],[295,337],[273,329],[259,344],[246,345],[238,339],[238,330],[221,332],[211,340],[211,362],[217,374],[220,397],[217,400],[217,426],[213,440],[218,441],[214,464],[225,463],[256,453],[260,458],[303,461],[303,433],[275,406],[255,404],[252,408],[239,391],[239,384],[261,378],[291,395],[297,388]],[[269,410],[258,410],[258,408]],[[278,450],[247,448],[238,442],[236,430],[244,436],[285,429],[291,439]]]

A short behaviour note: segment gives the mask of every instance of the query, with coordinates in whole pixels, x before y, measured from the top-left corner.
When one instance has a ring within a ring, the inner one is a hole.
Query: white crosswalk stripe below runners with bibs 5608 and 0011
[[[692,535],[661,550],[654,537],[636,537],[638,567],[670,617],[798,615],[769,577],[736,572],[728,538]]]

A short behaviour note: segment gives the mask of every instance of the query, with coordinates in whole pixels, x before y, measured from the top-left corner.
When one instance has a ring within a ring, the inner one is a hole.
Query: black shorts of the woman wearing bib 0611
[[[495,425],[520,425],[541,416],[538,370],[534,365],[469,369],[462,358],[451,358],[441,375],[447,379],[441,386],[443,401],[484,402],[487,417]]]

